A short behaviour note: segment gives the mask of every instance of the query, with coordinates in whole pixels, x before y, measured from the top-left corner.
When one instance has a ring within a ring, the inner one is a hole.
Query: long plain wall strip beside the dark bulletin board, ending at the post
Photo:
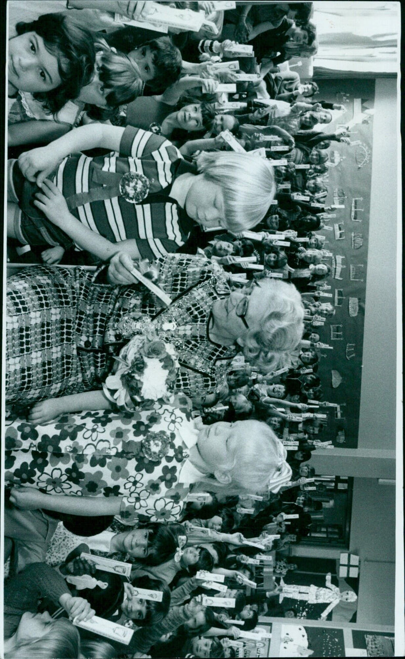
[[[377,78],[359,448],[395,447],[396,93],[395,78]]]

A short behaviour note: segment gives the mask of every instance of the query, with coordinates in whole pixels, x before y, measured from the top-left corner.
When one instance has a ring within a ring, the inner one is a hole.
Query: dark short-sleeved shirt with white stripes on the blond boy
[[[53,182],[86,227],[112,243],[134,239],[142,258],[154,260],[175,252],[194,225],[169,196],[173,181],[185,171],[196,173],[169,140],[128,126],[119,153],[95,158],[72,154],[59,165]],[[128,172],[148,178],[148,196],[139,204],[126,201],[119,191],[119,180]],[[96,188],[110,188],[111,194],[94,200]]]

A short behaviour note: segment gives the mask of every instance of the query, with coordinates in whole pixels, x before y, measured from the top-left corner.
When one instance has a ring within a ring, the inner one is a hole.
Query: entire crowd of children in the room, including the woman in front
[[[284,583],[345,108],[282,66],[312,3],[52,5],[9,26],[5,657],[239,656],[355,598]]]

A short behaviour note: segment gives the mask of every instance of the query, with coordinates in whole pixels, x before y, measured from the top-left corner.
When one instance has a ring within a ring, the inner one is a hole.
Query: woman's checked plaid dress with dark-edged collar
[[[235,354],[211,343],[206,330],[213,301],[227,290],[226,275],[186,254],[169,254],[157,265],[161,287],[178,296],[163,311],[142,285],[99,284],[97,273],[80,268],[38,266],[10,277],[7,402],[28,405],[101,389],[122,345],[150,322],[158,337],[175,345],[181,366],[175,391],[190,397],[215,391]]]

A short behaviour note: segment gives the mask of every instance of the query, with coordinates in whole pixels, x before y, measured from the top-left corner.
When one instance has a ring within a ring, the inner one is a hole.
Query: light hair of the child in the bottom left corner
[[[80,653],[80,636],[70,620],[60,618],[37,641],[23,641],[5,652],[5,659],[77,659]]]

